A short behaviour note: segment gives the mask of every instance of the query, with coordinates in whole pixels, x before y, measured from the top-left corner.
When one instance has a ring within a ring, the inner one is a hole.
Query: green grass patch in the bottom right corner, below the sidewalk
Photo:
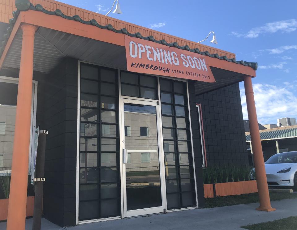
[[[260,224],[249,224],[247,226],[242,226],[241,228],[250,230],[296,230],[297,216],[290,216],[288,218],[277,219]]]

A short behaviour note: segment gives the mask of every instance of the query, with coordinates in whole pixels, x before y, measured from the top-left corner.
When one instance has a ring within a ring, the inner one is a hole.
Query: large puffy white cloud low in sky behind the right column
[[[276,124],[280,117],[297,118],[297,96],[288,90],[287,85],[253,84],[253,89],[260,124]],[[244,88],[240,88],[240,95],[243,119],[247,120],[248,112]]]

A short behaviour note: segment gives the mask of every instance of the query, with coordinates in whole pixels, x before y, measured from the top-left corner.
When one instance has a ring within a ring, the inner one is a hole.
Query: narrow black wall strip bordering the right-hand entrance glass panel
[[[200,131],[199,131],[199,120],[198,120],[197,110],[196,110],[194,81],[188,81],[188,90],[189,90],[189,103],[190,103],[190,115],[191,115],[191,126],[192,126],[198,207],[204,207],[205,200],[204,200],[203,176],[202,176],[202,167],[201,167],[202,165],[201,141],[200,141]]]

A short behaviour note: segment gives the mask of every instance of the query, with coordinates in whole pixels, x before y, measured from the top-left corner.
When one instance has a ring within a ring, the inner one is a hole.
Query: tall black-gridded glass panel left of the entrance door
[[[121,215],[118,71],[81,64],[79,220]]]

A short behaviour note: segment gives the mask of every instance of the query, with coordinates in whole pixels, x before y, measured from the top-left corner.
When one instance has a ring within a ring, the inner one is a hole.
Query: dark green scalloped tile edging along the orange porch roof
[[[234,62],[236,64],[240,64],[240,65],[243,65],[243,66],[249,66],[254,70],[257,70],[257,68],[258,68],[258,63],[257,62],[245,62],[245,61],[242,61],[242,60],[241,61],[236,61],[235,58],[227,58],[227,56],[219,56],[217,53],[210,54],[208,51],[200,52],[200,50],[198,48],[190,49],[190,47],[188,45],[179,46],[179,44],[177,42],[167,43],[166,40],[164,40],[164,39],[155,40],[155,38],[152,35],[150,35],[148,37],[143,37],[140,34],[140,32],[131,34],[131,33],[129,33],[127,31],[126,28],[122,28],[120,30],[117,30],[117,29],[113,28],[113,26],[111,24],[103,26],[103,25],[97,23],[97,21],[95,19],[85,21],[85,20],[81,19],[79,15],[67,16],[67,15],[63,14],[62,11],[59,10],[59,9],[57,9],[55,11],[48,11],[48,10],[45,10],[43,8],[43,6],[41,6],[40,4],[37,4],[36,6],[34,6],[32,3],[29,2],[29,0],[19,0],[18,3],[15,4],[15,6],[17,7],[17,10],[13,11],[13,13],[12,13],[13,18],[9,20],[9,27],[7,27],[7,34],[4,35],[5,40],[2,41],[2,43],[0,45],[0,57],[2,56],[2,53],[3,53],[4,49],[5,49],[8,38],[10,37],[10,34],[12,32],[12,29],[13,29],[13,26],[14,26],[14,24],[16,22],[16,19],[19,16],[19,13],[21,11],[34,10],[34,11],[41,11],[41,12],[43,12],[45,14],[48,14],[48,15],[61,16],[62,18],[68,19],[68,20],[75,20],[75,21],[78,21],[78,22],[86,24],[86,25],[97,26],[98,28],[101,28],[101,29],[108,29],[108,30],[111,30],[111,31],[113,31],[115,33],[123,33],[123,34],[127,34],[128,36],[131,36],[131,37],[137,37],[137,38],[140,38],[140,39],[153,41],[153,42],[156,42],[158,44],[167,45],[167,46],[170,46],[170,47],[176,47],[178,49],[187,50],[187,51],[190,51],[190,52],[193,52],[193,53],[198,53],[198,54],[201,54],[201,55],[204,55],[204,56],[209,56],[211,58],[217,58],[217,59],[220,59],[220,60],[225,60],[227,62]]]

